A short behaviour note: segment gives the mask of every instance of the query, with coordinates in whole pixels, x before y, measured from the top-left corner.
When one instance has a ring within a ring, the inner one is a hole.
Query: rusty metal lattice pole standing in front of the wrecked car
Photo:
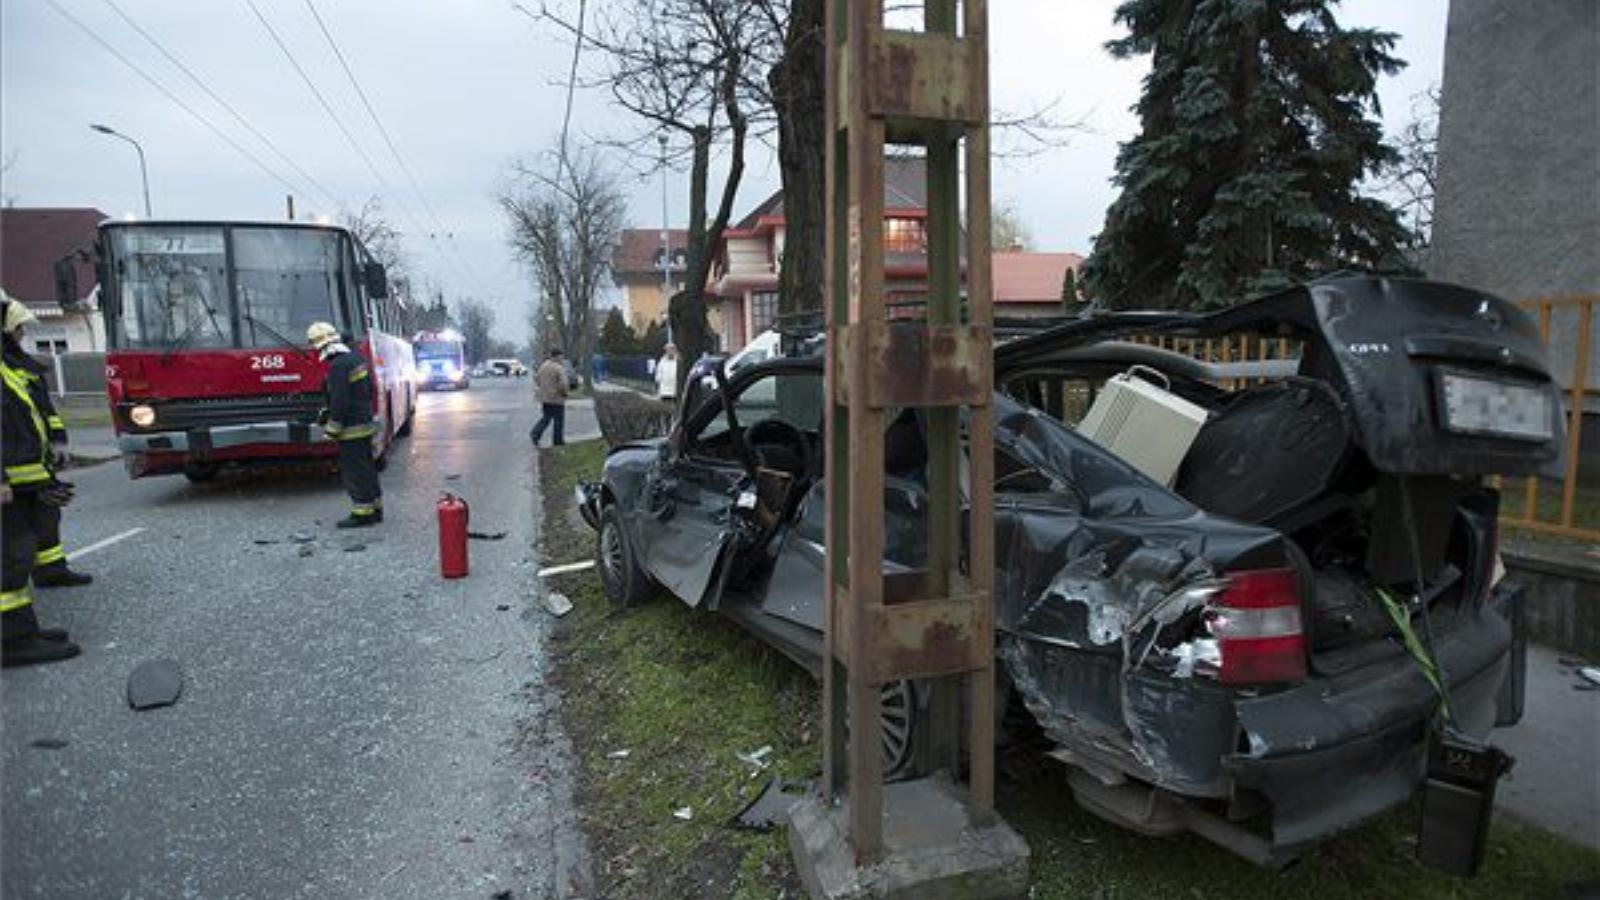
[[[885,684],[965,682],[966,807],[974,822],[990,822],[994,807],[987,3],[925,0],[922,30],[886,27],[883,5],[830,0],[827,10],[824,796],[837,802],[848,786],[858,865],[883,854]],[[920,319],[886,303],[890,146],[925,154],[928,301]],[[885,429],[904,410],[917,412],[926,436],[928,552],[920,570],[886,575]],[[934,757],[955,772],[962,716],[947,709],[933,719]]]

